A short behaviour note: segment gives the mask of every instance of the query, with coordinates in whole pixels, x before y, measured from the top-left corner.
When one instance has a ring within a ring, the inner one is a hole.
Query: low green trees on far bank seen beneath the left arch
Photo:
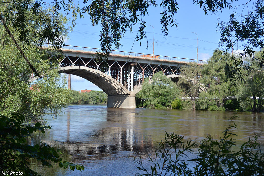
[[[92,90],[90,92],[82,92],[72,90],[71,91],[72,101],[71,104],[106,104],[107,94],[103,91]]]

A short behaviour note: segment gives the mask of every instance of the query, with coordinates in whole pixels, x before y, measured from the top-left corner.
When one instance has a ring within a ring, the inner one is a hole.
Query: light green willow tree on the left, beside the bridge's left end
[[[1,3],[0,6],[2,5]],[[45,18],[51,20],[49,12],[45,12]],[[25,19],[30,24],[24,28],[31,36],[34,36],[34,30],[42,27],[42,24],[35,23],[34,19],[35,16],[27,16]],[[11,25],[11,22],[12,20],[6,21],[8,25]],[[62,38],[67,37],[65,23],[66,19],[60,18],[58,27],[61,30],[58,32]],[[46,113],[53,113],[56,117],[70,101],[70,92],[65,88],[66,79],[59,75],[56,59],[48,52],[34,47],[34,42],[25,47],[24,53],[43,77],[31,82],[32,72],[27,62],[4,30],[4,27],[0,26],[0,113],[8,115],[21,112],[26,117],[26,123],[40,120],[44,122],[43,115]],[[20,36],[14,29],[12,33],[14,37]],[[29,87],[33,89],[30,90]]]

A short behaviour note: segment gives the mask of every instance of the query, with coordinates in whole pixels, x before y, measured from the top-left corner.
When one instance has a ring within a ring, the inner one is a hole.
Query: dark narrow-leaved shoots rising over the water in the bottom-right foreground
[[[150,170],[140,160],[137,168],[144,173],[138,175],[264,175],[264,153],[257,142],[257,136],[249,138],[238,151],[233,151],[237,147],[233,138],[235,134],[230,132],[236,128],[232,123],[234,118],[229,119],[229,126],[223,131],[222,138],[214,140],[209,135],[198,146],[196,157],[187,161],[184,156],[188,157],[188,152],[194,154],[196,142],[184,142],[183,136],[166,133],[165,140],[161,141],[156,151],[156,158],[150,159]],[[188,166],[191,161],[196,163],[194,167]]]

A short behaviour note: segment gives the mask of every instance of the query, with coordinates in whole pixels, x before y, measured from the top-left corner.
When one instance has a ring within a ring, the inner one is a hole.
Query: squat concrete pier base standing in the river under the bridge
[[[135,95],[108,95],[107,107],[109,108],[136,108]]]

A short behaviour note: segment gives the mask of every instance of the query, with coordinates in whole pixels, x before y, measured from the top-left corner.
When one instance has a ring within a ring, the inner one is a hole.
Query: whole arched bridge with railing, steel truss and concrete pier
[[[115,108],[135,108],[135,94],[142,89],[144,78],[162,71],[164,75],[177,81],[183,77],[180,75],[183,65],[188,62],[203,65],[207,62],[112,50],[106,69],[101,62],[96,61],[97,51],[100,52],[100,49],[65,45],[62,49],[64,56],[59,62],[60,73],[91,81],[108,95],[107,107]]]

